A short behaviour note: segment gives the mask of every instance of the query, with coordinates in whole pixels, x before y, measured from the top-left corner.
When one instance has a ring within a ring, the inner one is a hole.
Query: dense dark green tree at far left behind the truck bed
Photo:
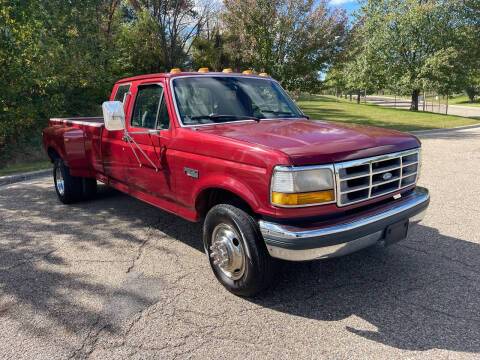
[[[107,37],[117,6],[0,0],[0,164],[38,157],[48,117],[99,112],[114,78]]]

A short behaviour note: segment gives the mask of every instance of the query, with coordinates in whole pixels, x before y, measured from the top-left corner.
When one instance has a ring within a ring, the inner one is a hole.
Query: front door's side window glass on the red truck
[[[139,86],[131,126],[155,129],[162,95],[163,87],[158,84]]]

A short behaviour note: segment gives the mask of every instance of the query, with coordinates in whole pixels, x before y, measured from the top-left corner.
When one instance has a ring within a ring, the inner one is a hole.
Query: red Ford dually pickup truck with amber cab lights
[[[238,295],[272,281],[274,258],[404,239],[429,204],[416,137],[309,120],[266,74],[136,76],[102,108],[43,131],[60,201],[91,198],[100,181],[203,221],[213,272]]]

